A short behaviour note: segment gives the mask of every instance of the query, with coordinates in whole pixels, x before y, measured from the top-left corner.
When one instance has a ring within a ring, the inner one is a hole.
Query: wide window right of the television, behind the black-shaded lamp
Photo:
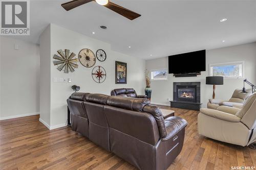
[[[244,61],[228,62],[209,65],[210,76],[226,78],[243,78]]]

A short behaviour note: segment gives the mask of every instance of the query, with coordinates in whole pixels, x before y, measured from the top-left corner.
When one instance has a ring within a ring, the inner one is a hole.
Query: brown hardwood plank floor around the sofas
[[[182,152],[168,169],[256,167],[256,150],[203,137],[197,132],[197,111],[172,110],[185,118],[188,126]],[[1,170],[136,169],[69,127],[49,131],[38,118],[36,115],[0,121]]]

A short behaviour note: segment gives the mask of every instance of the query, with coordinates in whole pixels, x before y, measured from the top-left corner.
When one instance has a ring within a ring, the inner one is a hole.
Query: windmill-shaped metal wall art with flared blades
[[[63,70],[65,73],[74,72],[74,68],[78,68],[78,65],[76,64],[78,62],[77,58],[74,58],[76,56],[75,53],[70,54],[70,50],[65,50],[65,53],[62,50],[57,51],[58,55],[54,55],[53,58],[56,61],[53,61],[54,65],[57,65],[57,69],[59,71]]]

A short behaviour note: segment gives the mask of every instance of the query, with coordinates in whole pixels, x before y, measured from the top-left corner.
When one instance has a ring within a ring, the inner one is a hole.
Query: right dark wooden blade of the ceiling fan
[[[111,9],[112,11],[115,11],[116,13],[128,18],[128,19],[131,19],[131,20],[141,16],[140,14],[137,14],[136,12],[133,12],[129,9],[123,8],[123,7],[116,5],[112,2],[109,2],[108,4],[106,4],[104,6],[106,8]]]

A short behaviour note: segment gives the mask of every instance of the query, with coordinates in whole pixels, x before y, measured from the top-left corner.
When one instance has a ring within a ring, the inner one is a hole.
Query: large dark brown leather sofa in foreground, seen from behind
[[[72,130],[139,169],[167,169],[181,152],[186,120],[147,99],[76,92],[67,102]]]

